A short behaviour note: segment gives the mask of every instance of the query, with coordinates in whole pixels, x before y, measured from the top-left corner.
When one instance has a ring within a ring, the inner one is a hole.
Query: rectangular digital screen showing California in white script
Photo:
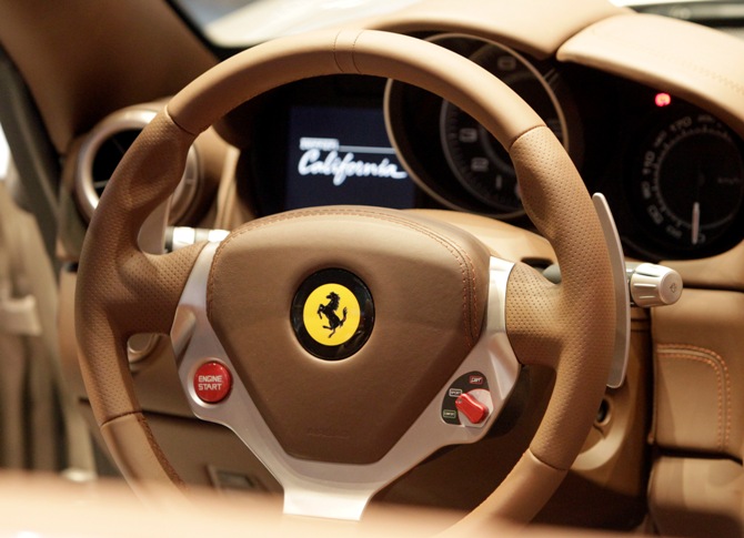
[[[413,207],[415,187],[379,109],[292,106],[284,207]]]

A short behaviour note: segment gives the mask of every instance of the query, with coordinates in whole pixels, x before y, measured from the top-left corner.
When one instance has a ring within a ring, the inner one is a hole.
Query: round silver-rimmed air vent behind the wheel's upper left
[[[101,193],[109,183],[121,158],[132,145],[142,129],[152,121],[158,106],[123,109],[103,119],[84,140],[78,154],[76,200],[80,212],[90,220]],[[181,183],[171,201],[170,221],[181,222],[191,207],[200,181],[199,156],[192,146]]]

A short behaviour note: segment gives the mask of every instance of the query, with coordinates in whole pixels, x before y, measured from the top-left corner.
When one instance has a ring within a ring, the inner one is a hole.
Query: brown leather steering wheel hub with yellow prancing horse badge
[[[288,454],[370,464],[411,427],[477,341],[489,257],[465,232],[413,215],[296,211],[245,224],[222,242],[207,313]],[[299,306],[290,305],[304,295],[298,331],[290,318]],[[365,305],[364,317],[356,304]],[[356,329],[346,335],[352,321]],[[309,339],[295,337],[305,332]],[[316,341],[334,337],[346,342]],[[338,348],[343,361],[319,359]]]

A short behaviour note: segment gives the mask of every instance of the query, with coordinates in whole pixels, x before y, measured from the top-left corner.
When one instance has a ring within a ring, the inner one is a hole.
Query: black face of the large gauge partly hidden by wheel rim
[[[514,90],[566,144],[565,122],[545,79],[513,51],[485,44],[470,59]],[[480,123],[443,102],[442,145],[454,175],[479,201],[506,216],[522,211],[516,174],[506,150]]]

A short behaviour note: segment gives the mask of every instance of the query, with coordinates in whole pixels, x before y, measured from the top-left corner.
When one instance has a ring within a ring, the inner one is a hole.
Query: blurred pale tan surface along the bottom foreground
[[[152,488],[142,503],[122,484],[74,484],[59,476],[3,473],[0,505],[8,536],[269,536],[272,538],[358,538],[436,536],[456,514],[415,507],[380,507],[364,525],[322,518],[283,517],[279,497]],[[462,535],[461,535],[462,536]],[[469,538],[575,538],[576,529],[522,529],[509,521],[484,521]],[[607,532],[582,530],[584,538]],[[614,536],[614,535],[613,535]]]

